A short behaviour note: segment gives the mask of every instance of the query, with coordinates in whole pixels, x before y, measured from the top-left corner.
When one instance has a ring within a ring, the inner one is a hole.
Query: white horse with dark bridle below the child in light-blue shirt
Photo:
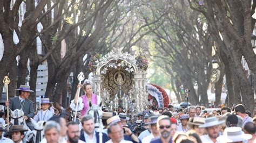
[[[29,134],[29,138],[27,140],[31,140],[32,138],[33,142],[39,143],[44,138],[43,130],[46,122],[44,120],[41,120],[36,123],[35,120],[33,120],[32,118],[30,119],[31,119],[31,123],[34,125],[34,130],[32,133]]]

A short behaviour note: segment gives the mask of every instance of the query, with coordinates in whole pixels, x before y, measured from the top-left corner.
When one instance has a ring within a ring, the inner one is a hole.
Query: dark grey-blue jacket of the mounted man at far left
[[[25,103],[24,103],[25,102]],[[25,116],[29,119],[34,116],[33,102],[29,99],[25,99],[22,103],[19,102],[19,97],[10,98],[9,108],[14,111],[15,109],[21,109],[21,104],[23,104],[23,112]]]

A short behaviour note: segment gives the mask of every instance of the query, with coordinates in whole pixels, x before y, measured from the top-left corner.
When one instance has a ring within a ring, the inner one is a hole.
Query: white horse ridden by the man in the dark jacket
[[[24,119],[24,112],[19,109],[15,109],[14,111],[10,110],[11,113],[11,125],[23,125],[23,128],[25,128],[26,132],[24,132],[25,138],[23,138],[23,142],[29,141],[27,140],[28,135],[32,133],[30,128],[26,125],[26,121]]]

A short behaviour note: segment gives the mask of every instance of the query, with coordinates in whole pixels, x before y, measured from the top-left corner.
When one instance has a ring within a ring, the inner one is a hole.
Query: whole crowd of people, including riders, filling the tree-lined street
[[[18,97],[5,102],[5,108],[9,106],[12,111],[21,109],[30,130],[33,130],[33,126],[29,125],[31,120],[36,123],[45,121],[44,137],[40,142],[256,142],[256,117],[251,117],[242,104],[232,108],[223,106],[211,112],[203,106],[174,109],[170,104],[166,108],[139,112],[133,123],[122,111],[117,115],[103,112],[102,127],[96,126],[96,117],[87,114],[87,110],[89,103],[100,102],[99,97],[92,94],[90,83],[78,85],[78,88],[82,87],[85,95],[71,103],[73,108],[79,104],[82,111],[76,121],[66,118],[65,114],[56,114],[50,108],[52,103],[49,98],[42,98],[41,110],[34,112],[33,103],[28,99],[32,90],[25,85],[17,89]],[[6,116],[2,112],[0,122],[0,142],[24,142],[28,128],[12,125],[7,132]]]

